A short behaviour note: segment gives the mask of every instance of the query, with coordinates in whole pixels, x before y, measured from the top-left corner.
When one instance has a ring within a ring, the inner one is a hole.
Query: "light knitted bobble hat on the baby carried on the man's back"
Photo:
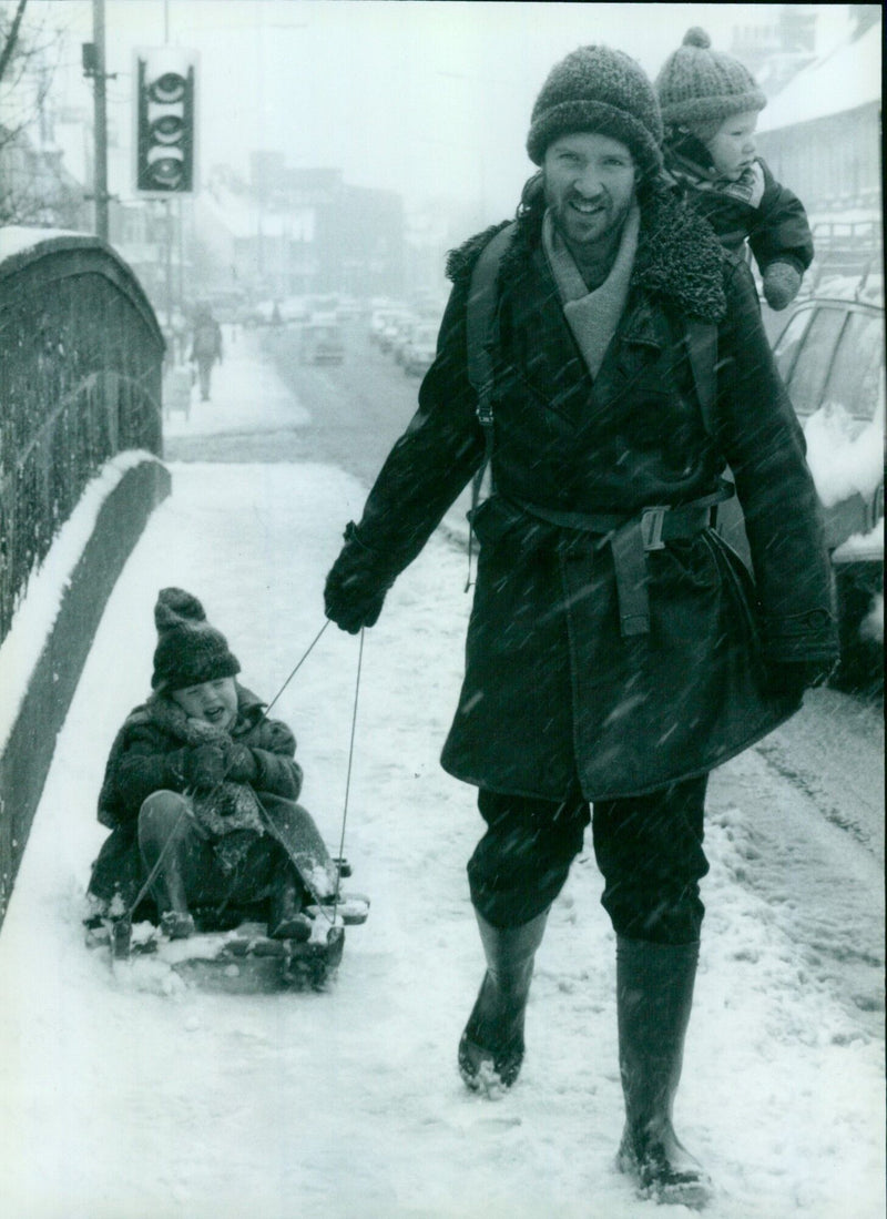
[[[693,26],[684,43],[663,63],[656,78],[663,122],[698,130],[713,124],[710,134],[747,110],[763,110],[766,98],[744,65],[712,50],[704,29]]]

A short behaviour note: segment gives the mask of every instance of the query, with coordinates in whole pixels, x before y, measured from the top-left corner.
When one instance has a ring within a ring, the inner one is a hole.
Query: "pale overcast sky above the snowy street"
[[[654,74],[701,24],[727,50],[736,26],[776,5],[526,4],[435,0],[106,0],[108,116],[128,144],[132,56],[168,39],[200,52],[200,158],[246,172],[252,149],[295,166],[336,166],[347,182],[407,200],[482,199],[509,213],[531,169],[535,96],[553,63],[606,43]],[[811,5],[830,30],[846,5]],[[91,0],[32,0],[66,29],[68,99],[90,106],[79,44]],[[122,190],[125,183],[111,183]]]

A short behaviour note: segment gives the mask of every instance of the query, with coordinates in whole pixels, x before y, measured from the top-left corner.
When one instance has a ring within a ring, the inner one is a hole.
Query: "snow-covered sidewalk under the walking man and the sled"
[[[464,875],[481,823],[473,790],[437,764],[470,601],[464,555],[443,536],[366,638],[345,846],[350,885],[373,907],[347,930],[331,987],[141,989],[84,948],[83,891],[104,837],[96,795],[112,736],[149,690],[157,590],[197,594],[244,681],[269,698],[323,625],[324,575],[366,494],[309,463],[171,471],[172,497],[108,602],[58,736],[0,934],[0,1213],[688,1214],[635,1199],[613,1167],[614,941],[590,839],[539,953],[519,1084],[489,1103],[456,1073],[482,973]],[[358,641],[330,627],[274,709],[299,737],[303,802],[335,846],[357,657]],[[737,884],[732,790],[713,785],[709,915],[676,1114],[720,1186],[708,1214],[880,1219],[883,1043]]]

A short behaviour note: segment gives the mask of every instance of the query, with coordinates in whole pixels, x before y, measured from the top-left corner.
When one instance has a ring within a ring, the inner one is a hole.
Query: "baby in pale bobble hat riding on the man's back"
[[[656,87],[673,184],[727,250],[740,252],[748,241],[768,305],[786,308],[813,261],[813,234],[804,205],[757,155],[764,93],[738,60],[713,51],[698,27],[665,60]]]

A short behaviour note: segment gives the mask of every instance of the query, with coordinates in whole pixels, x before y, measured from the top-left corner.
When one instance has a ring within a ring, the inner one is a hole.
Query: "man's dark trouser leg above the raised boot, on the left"
[[[478,792],[487,829],[468,861],[478,913],[495,928],[521,926],[547,911],[582,850],[588,805]]]

